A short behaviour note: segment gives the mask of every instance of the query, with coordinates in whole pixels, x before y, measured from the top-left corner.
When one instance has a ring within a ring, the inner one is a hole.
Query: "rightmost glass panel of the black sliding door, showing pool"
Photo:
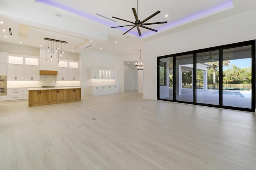
[[[252,108],[252,46],[223,50],[223,106]]]

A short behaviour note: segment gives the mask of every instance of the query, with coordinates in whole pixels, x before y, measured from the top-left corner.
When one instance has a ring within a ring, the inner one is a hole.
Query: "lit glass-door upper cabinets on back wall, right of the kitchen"
[[[116,70],[91,68],[91,79],[116,79]]]

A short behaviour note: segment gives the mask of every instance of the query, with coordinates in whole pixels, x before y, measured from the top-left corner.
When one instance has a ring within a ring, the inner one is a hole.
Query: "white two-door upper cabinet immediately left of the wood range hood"
[[[24,80],[40,80],[39,66],[38,65],[25,65],[24,66]]]

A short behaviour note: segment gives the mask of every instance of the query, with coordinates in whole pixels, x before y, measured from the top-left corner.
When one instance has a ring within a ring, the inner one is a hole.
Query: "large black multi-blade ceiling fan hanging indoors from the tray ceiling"
[[[137,8],[139,8],[139,0],[138,0],[138,7],[137,7]],[[118,20],[122,20],[122,21],[126,21],[126,22],[132,23],[132,25],[118,26],[118,27],[133,26],[131,29],[129,29],[128,31],[126,31],[125,33],[123,33],[123,35],[126,34],[126,33],[128,33],[128,32],[129,32],[130,30],[132,30],[134,27],[137,27],[137,30],[138,30],[138,33],[139,33],[140,36],[141,36],[140,27],[146,28],[146,29],[149,29],[149,30],[151,30],[151,31],[157,32],[158,30],[152,29],[152,28],[149,28],[149,27],[146,27],[146,26],[144,26],[144,25],[153,25],[153,24],[167,23],[167,21],[145,23],[145,22],[148,21],[150,18],[152,18],[152,17],[156,16],[157,14],[159,14],[160,11],[155,12],[154,14],[152,14],[151,16],[149,16],[148,18],[146,18],[146,19],[143,20],[143,21],[140,21],[140,20],[139,20],[139,18],[138,18],[138,17],[139,17],[139,12],[138,12],[138,15],[137,15],[135,8],[132,8],[132,12],[133,12],[134,17],[135,17],[135,22],[123,20],[123,19],[121,19],[121,18],[117,18],[117,17],[112,16],[112,18],[115,18],[115,19],[118,19]],[[117,28],[117,27],[111,27],[111,28]]]

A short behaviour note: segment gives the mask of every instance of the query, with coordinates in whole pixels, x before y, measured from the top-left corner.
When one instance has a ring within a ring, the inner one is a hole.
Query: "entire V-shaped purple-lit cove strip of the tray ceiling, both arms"
[[[56,8],[59,8],[59,9],[62,9],[62,10],[65,10],[65,11],[68,11],[72,14],[76,14],[78,16],[82,16],[84,18],[88,18],[90,20],[93,20],[93,21],[96,21],[96,22],[99,22],[99,23],[102,23],[102,24],[105,24],[105,25],[108,25],[109,27],[114,27],[114,26],[120,26],[120,25],[116,25],[116,24],[113,24],[113,23],[110,23],[108,21],[105,21],[105,20],[102,20],[100,18],[97,18],[95,16],[92,16],[90,14],[86,14],[85,12],[81,12],[81,11],[78,11],[78,10],[75,10],[74,8],[71,8],[69,6],[65,6],[65,5],[62,5],[60,3],[57,3],[57,2],[53,2],[52,0],[35,0],[35,2],[42,2],[44,4],[48,4],[50,6],[54,6]],[[178,20],[178,21],[175,21],[175,22],[172,22],[170,24],[164,24],[163,27],[160,27],[158,28],[158,31],[161,31],[161,30],[164,30],[164,29],[170,29],[172,27],[176,27],[178,25],[182,25],[184,23],[188,23],[188,22],[191,22],[193,20],[196,20],[196,19],[199,19],[199,18],[203,18],[203,17],[206,17],[206,16],[209,16],[210,14],[213,14],[213,13],[216,13],[216,12],[220,12],[220,11],[223,11],[223,10],[227,10],[227,9],[230,9],[230,8],[233,8],[233,3],[232,3],[232,0],[229,0],[228,2],[224,3],[224,4],[221,4],[220,6],[217,6],[217,7],[214,7],[214,8],[211,8],[209,10],[205,10],[203,12],[200,12],[200,13],[197,13],[197,14],[194,14],[192,16],[188,16],[186,18],[183,18],[181,20]],[[119,29],[121,31],[124,31],[126,32],[128,29],[130,29],[129,27],[118,27],[116,29]],[[134,28],[136,30],[136,28]],[[146,33],[143,33],[141,36],[138,35],[138,32],[137,31],[129,31],[128,32],[129,34],[132,34],[132,35],[135,35],[136,37],[146,37],[146,36],[149,36],[151,34],[154,34],[155,32],[153,31],[147,31]]]

